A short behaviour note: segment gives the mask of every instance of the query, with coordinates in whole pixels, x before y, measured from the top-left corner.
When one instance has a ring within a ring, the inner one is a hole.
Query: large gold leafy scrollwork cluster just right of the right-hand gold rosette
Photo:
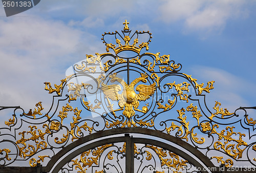
[[[243,154],[244,150],[246,149],[246,147],[248,146],[248,144],[245,141],[243,141],[243,139],[242,139],[242,137],[245,136],[245,134],[242,134],[240,132],[238,132],[238,133],[233,132],[234,126],[232,126],[232,127],[227,126],[226,127],[227,133],[225,135],[225,129],[223,129],[221,131],[221,133],[218,133],[216,131],[215,127],[219,128],[219,125],[214,124],[214,126],[212,127],[212,130],[211,130],[211,134],[217,134],[219,136],[219,139],[218,139],[219,141],[216,141],[214,143],[214,148],[217,150],[223,149],[226,154],[233,157],[234,159],[242,158],[242,154]],[[233,139],[231,137],[232,135],[237,135],[237,134],[239,134],[239,139]],[[224,140],[224,144],[220,141],[221,139]],[[234,148],[235,144],[228,144],[230,141],[238,143],[236,145],[236,149]],[[245,146],[244,149],[240,148],[240,146],[242,146],[242,145]]]

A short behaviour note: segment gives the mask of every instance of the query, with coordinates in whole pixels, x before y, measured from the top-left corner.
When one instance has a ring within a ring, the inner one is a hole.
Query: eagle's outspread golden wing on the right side
[[[136,91],[139,92],[139,94],[137,94],[138,100],[145,101],[155,93],[156,83],[153,83],[151,85],[140,84],[136,87]]]

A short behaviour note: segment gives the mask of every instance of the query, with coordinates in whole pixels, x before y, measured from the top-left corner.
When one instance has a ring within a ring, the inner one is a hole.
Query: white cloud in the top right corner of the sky
[[[159,7],[160,20],[172,23],[181,20],[185,32],[221,30],[228,19],[245,17],[245,1],[164,1]]]

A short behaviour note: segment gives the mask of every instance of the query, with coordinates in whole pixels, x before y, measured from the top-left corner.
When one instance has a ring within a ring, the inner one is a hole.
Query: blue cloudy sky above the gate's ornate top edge
[[[0,7],[0,105],[33,109],[52,96],[44,82],[60,83],[66,70],[104,53],[101,34],[123,29],[152,33],[151,53],[170,54],[198,83],[215,80],[207,105],[229,111],[256,106],[256,1],[42,0],[6,17]]]

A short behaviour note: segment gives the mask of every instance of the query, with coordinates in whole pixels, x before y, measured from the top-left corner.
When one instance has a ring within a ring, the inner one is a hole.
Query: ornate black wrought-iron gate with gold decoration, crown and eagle
[[[107,53],[87,55],[59,85],[45,82],[55,94],[48,112],[41,102],[1,107],[12,116],[0,128],[0,172],[255,171],[256,120],[246,110],[256,107],[208,109],[214,81],[142,53],[152,34],[128,24],[102,34]]]

